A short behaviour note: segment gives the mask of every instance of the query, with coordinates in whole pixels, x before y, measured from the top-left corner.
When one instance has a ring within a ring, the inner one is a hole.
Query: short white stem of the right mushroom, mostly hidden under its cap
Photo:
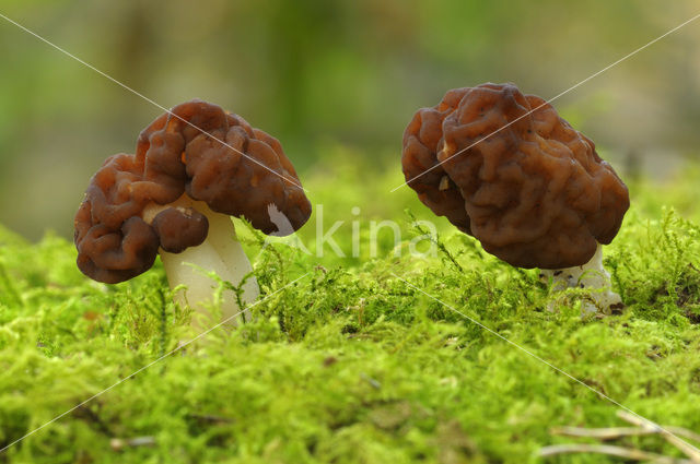
[[[549,282],[552,279],[552,290],[567,288],[590,288],[591,300],[583,302],[583,311],[609,312],[623,307],[622,299],[612,292],[610,274],[603,267],[603,247],[598,243],[591,261],[583,265],[558,270],[540,270],[539,277]]]

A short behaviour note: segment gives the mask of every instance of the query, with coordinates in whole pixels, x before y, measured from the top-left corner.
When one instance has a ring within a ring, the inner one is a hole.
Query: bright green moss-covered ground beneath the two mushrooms
[[[388,192],[400,169],[325,151],[319,166],[337,170],[302,176],[323,204],[300,233],[312,254],[282,239],[261,249],[236,223],[269,296],[253,322],[153,364],[0,463],[618,462],[537,457],[571,441],[550,428],[619,425],[619,408],[397,276],[634,412],[700,431],[698,168],[628,182],[632,207],[605,248],[627,308],[582,318],[585,293],[550,295],[536,271],[499,262],[442,218],[436,254],[411,257],[422,234],[412,215],[434,217],[411,190]],[[345,221],[332,238],[348,257],[328,247],[316,255],[319,214],[325,230]],[[370,222],[384,219],[396,221],[401,242],[385,227],[372,253]],[[74,259],[63,238],[28,243],[0,229],[0,448],[194,335],[160,265],[107,286]],[[677,454],[657,438],[627,444]]]

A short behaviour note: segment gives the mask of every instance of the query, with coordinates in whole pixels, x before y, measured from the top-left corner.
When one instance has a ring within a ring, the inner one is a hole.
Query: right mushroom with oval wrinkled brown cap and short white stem
[[[629,193],[595,144],[513,84],[448,91],[404,133],[406,182],[435,214],[555,288],[592,287],[594,305],[621,307],[603,267]]]

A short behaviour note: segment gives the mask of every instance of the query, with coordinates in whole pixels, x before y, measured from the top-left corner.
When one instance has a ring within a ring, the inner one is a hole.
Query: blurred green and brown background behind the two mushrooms
[[[280,139],[302,181],[348,162],[335,159],[342,153],[400,171],[406,123],[446,90],[511,81],[551,98],[698,10],[681,0],[0,2],[160,105],[199,97],[242,115]],[[666,176],[699,153],[699,39],[700,20],[555,106],[622,175]],[[0,56],[0,223],[31,239],[71,237],[90,176],[132,153],[162,111],[2,19]],[[329,144],[350,150],[328,154]]]

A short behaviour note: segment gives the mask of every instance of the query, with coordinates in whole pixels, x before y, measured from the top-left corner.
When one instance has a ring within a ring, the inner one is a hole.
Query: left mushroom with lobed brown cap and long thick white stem
[[[291,227],[278,230],[271,212]],[[176,300],[208,316],[217,285],[211,271],[234,286],[248,276],[242,301],[258,295],[230,216],[280,235],[299,229],[310,215],[277,139],[217,105],[191,100],[145,128],[136,155],[110,156],[92,177],[75,215],[78,267],[115,284],[148,271],[160,253],[171,288],[186,286]],[[226,296],[221,311],[235,323],[236,298]],[[199,324],[196,318],[192,323]]]

